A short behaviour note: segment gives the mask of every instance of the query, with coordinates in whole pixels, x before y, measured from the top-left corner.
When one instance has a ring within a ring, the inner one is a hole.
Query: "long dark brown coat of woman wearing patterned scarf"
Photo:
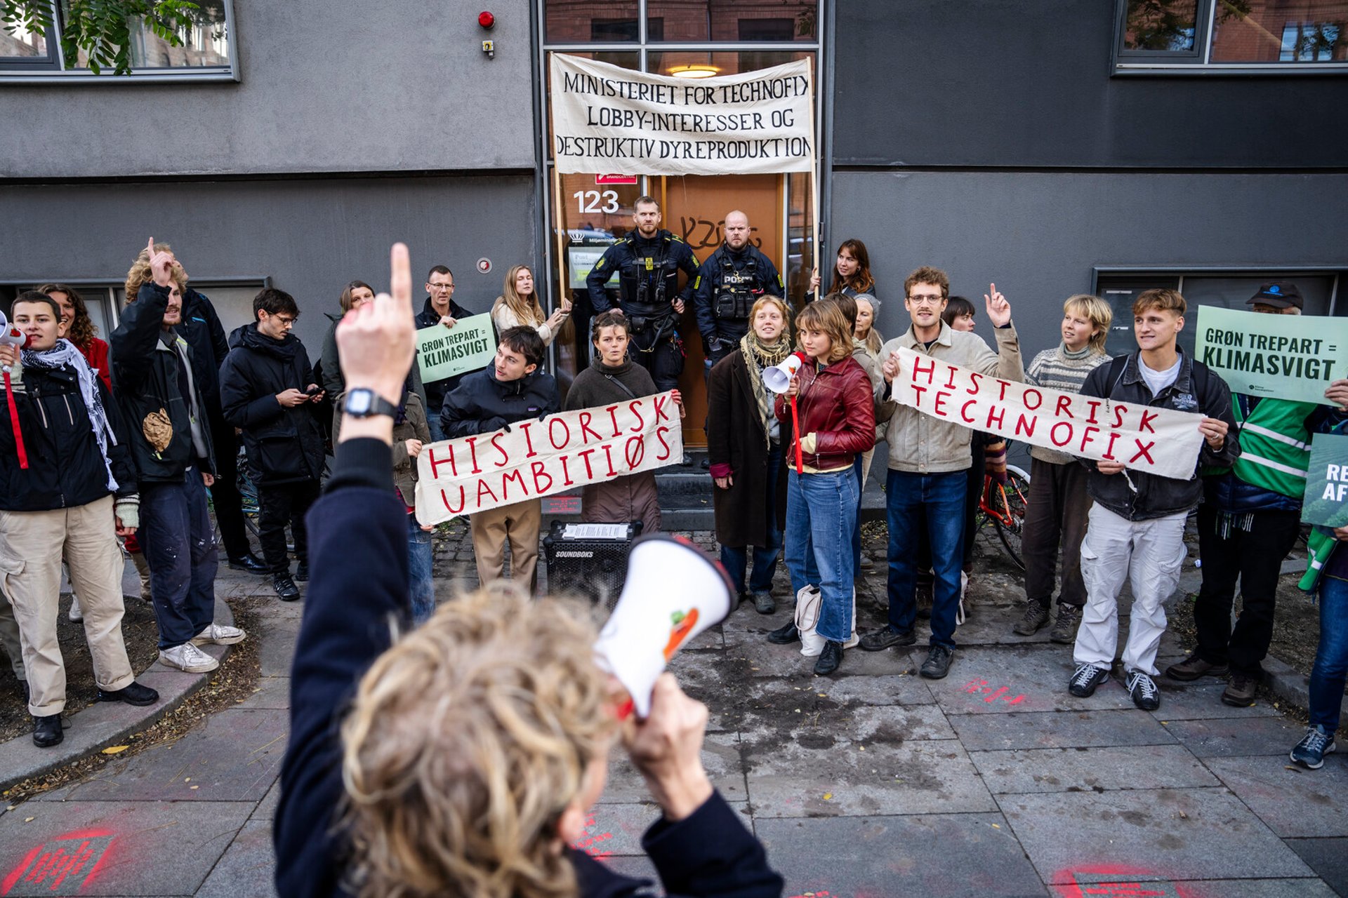
[[[782,425],[782,466],[767,482],[767,435],[759,416],[744,351],[735,350],[712,368],[706,386],[706,454],[713,471],[728,464],[732,485],[713,487],[716,540],[723,545],[767,545],[768,490],[776,490],[776,529],[786,528],[786,470],[791,425]]]

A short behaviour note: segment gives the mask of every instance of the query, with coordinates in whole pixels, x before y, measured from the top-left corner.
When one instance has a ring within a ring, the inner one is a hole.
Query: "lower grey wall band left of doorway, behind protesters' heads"
[[[448,264],[454,299],[488,311],[507,268],[537,271],[538,214],[532,175],[8,186],[0,221],[27,226],[5,228],[0,280],[120,283],[152,236],[197,281],[271,276],[299,303],[295,333],[317,359],[322,312],[350,280],[387,289],[395,240],[411,249],[418,308],[426,271]],[[252,319],[235,306],[220,308],[226,324]]]

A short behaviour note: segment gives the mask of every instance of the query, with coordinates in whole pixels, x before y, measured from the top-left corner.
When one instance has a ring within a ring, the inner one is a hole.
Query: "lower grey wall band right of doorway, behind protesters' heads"
[[[865,242],[887,338],[909,324],[905,276],[936,265],[987,339],[996,281],[1029,359],[1058,342],[1062,300],[1091,288],[1095,265],[1348,269],[1348,206],[1326,202],[1345,191],[1337,174],[848,171],[833,175],[832,234]]]

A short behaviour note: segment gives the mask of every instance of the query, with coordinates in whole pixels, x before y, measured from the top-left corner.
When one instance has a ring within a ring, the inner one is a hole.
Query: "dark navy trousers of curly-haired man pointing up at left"
[[[216,619],[216,540],[201,473],[181,482],[140,483],[140,547],[150,564],[150,592],[159,648],[190,642]]]

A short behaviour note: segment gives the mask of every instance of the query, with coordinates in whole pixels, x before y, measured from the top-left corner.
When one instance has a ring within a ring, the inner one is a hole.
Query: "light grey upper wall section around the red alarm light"
[[[233,5],[240,83],[4,85],[0,178],[534,167],[528,0]]]

